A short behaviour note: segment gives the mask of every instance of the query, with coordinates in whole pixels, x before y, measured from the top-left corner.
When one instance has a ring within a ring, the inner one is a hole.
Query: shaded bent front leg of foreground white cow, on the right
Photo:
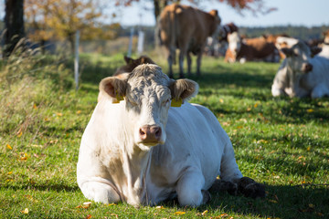
[[[186,172],[178,181],[176,193],[182,206],[196,207],[210,200],[210,193],[202,190],[205,184],[203,175],[199,172]]]

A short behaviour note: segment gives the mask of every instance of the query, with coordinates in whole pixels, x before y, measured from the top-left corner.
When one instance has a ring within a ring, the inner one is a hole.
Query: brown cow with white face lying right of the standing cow
[[[264,37],[241,39],[238,32],[228,35],[226,62],[268,61],[279,62],[279,51],[273,43]]]

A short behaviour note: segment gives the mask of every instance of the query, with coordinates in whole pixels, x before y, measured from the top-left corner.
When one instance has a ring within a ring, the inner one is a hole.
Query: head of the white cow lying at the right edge
[[[308,73],[312,71],[313,66],[309,62],[312,51],[302,41],[298,41],[292,47],[283,47],[281,51],[287,57],[288,68],[291,68],[292,72]]]

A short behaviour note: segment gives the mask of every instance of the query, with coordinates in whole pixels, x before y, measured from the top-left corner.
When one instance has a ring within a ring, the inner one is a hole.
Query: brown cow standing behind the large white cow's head
[[[220,17],[217,10],[209,13],[187,5],[167,5],[159,17],[157,28],[161,44],[165,47],[169,64],[169,77],[173,78],[175,50],[179,53],[179,75],[184,78],[183,63],[187,58],[187,73],[191,74],[191,56],[196,58],[196,74],[200,75],[201,57],[207,43],[207,36],[218,33]]]

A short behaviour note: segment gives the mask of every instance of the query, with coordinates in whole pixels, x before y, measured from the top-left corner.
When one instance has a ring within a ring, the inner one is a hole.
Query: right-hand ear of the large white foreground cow
[[[169,89],[174,102],[182,102],[196,96],[198,84],[190,79],[178,79],[170,84]]]

